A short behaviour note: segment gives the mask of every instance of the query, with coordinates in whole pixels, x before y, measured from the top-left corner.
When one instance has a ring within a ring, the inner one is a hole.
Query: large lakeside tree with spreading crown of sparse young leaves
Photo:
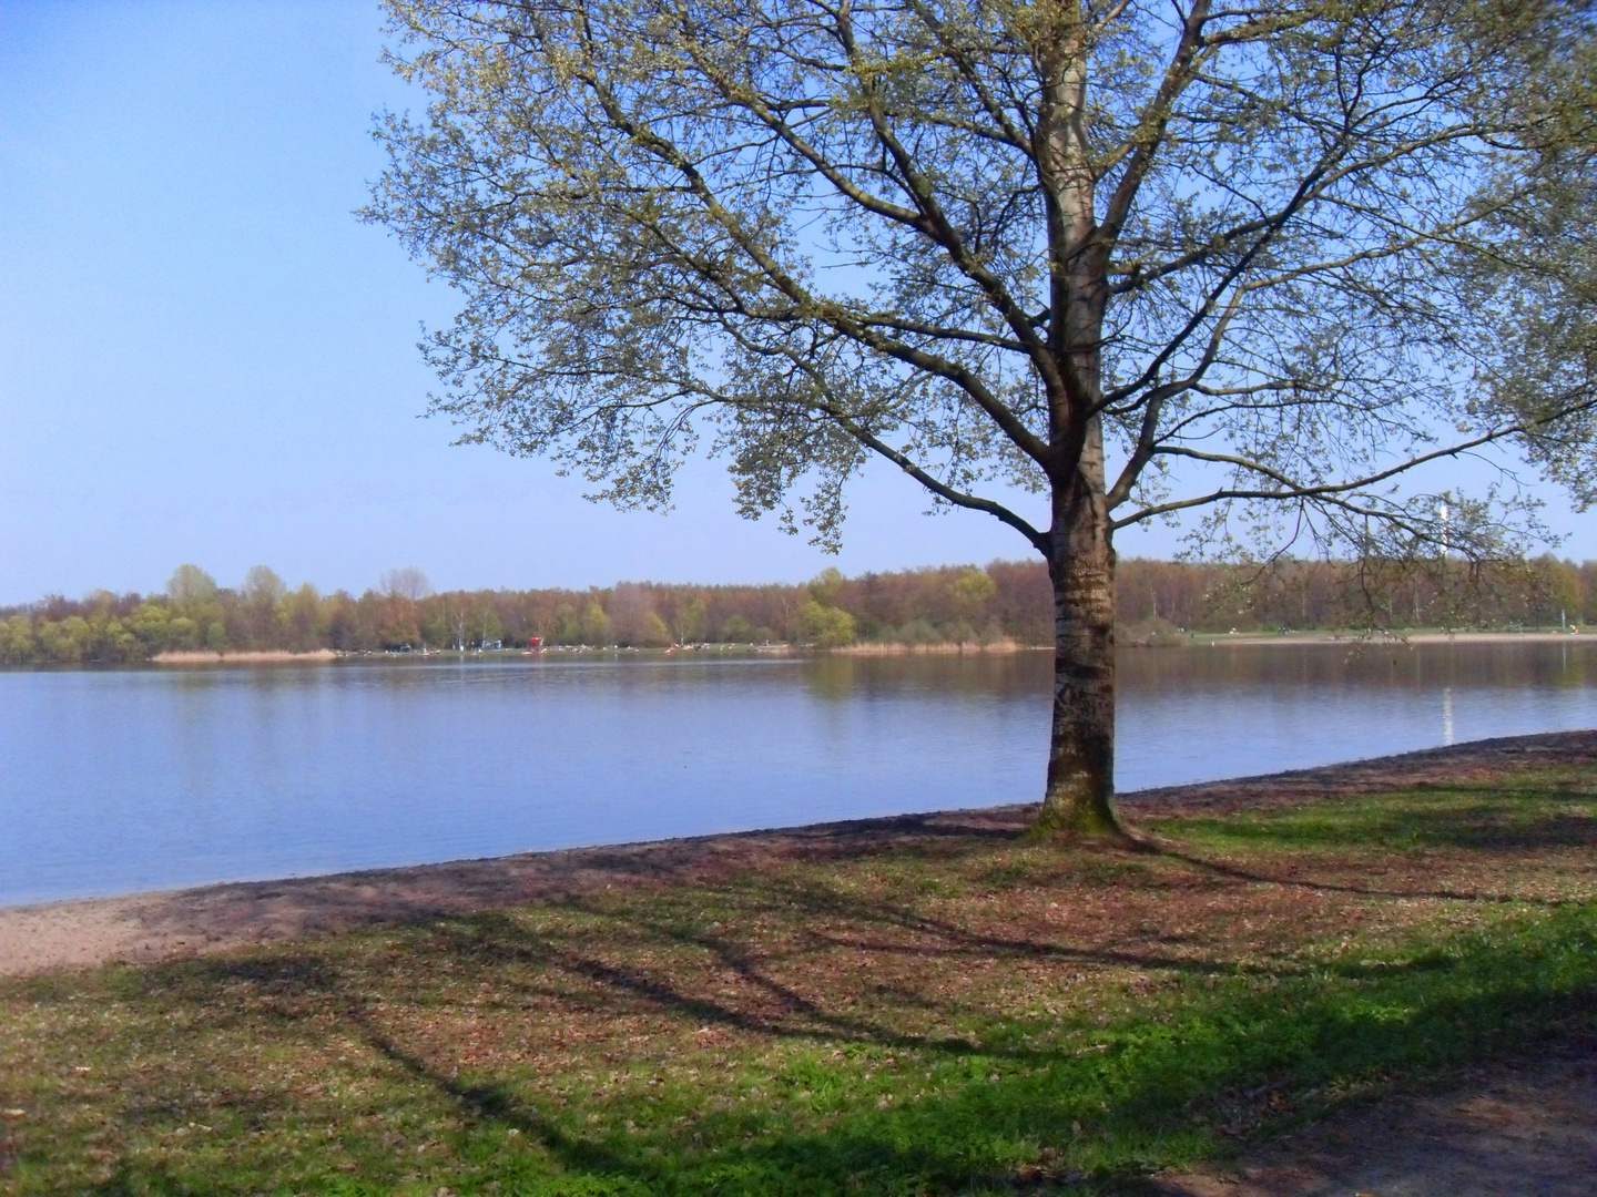
[[[1517,476],[1434,471],[1492,452],[1594,496],[1579,5],[390,8],[431,102],[367,217],[465,295],[434,407],[621,504],[725,453],[824,546],[872,455],[1008,523],[1054,586],[1044,825],[1116,830],[1116,530],[1492,552]]]

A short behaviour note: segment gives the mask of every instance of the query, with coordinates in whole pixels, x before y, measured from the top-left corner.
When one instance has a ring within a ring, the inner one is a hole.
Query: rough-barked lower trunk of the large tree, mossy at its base
[[[1054,493],[1054,723],[1036,828],[1121,836],[1115,817],[1115,551],[1096,426],[1081,469]]]

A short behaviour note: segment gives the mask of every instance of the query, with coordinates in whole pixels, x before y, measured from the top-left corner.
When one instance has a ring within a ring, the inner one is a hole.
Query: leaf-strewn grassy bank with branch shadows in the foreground
[[[1597,768],[0,983],[0,1192],[1099,1191],[1597,1029]]]

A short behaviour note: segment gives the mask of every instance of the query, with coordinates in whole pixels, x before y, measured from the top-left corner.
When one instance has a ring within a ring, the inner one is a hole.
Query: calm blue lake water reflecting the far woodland
[[[0,903],[1040,793],[1046,653],[0,672]],[[1121,658],[1119,788],[1597,723],[1597,643]]]

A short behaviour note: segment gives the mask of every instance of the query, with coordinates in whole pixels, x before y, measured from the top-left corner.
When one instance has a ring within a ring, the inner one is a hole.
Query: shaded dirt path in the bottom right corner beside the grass
[[[1445,1092],[1340,1111],[1228,1168],[1159,1176],[1142,1197],[1591,1197],[1597,1044],[1476,1069]]]

